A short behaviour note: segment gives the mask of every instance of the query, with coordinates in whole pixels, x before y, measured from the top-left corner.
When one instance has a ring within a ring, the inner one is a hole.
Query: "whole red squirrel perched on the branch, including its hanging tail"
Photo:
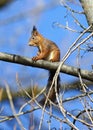
[[[32,36],[29,40],[29,46],[36,46],[38,48],[37,56],[32,58],[33,61],[37,61],[41,59],[51,61],[51,62],[60,61],[60,50],[58,46],[53,41],[44,38],[37,31],[37,28],[35,26],[33,26]],[[51,87],[54,75],[55,75],[55,70],[49,70],[49,78],[48,78],[48,83],[46,87],[47,88],[46,95],[49,92],[49,88]],[[58,76],[57,78],[57,92],[58,93],[59,93],[59,88],[60,88],[60,77]],[[54,85],[52,87],[52,90],[48,98],[53,102],[56,100]],[[45,100],[46,98],[43,98],[39,103],[44,105]]]

